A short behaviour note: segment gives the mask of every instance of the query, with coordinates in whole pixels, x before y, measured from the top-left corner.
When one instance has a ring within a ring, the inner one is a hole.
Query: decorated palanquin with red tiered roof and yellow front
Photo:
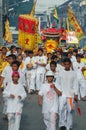
[[[42,38],[45,38],[47,52],[52,52],[58,47],[60,37],[61,33],[59,29],[48,28],[42,31]]]

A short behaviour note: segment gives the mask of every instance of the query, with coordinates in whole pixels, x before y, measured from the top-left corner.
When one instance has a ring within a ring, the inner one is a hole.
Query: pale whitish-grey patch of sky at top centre
[[[53,7],[59,6],[68,0],[37,0],[36,12],[43,12],[46,10],[51,10]]]

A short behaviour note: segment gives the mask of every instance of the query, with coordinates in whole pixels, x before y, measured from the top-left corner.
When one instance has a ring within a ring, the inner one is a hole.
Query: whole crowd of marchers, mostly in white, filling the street
[[[0,87],[3,118],[8,130],[19,130],[23,101],[37,94],[46,130],[73,129],[73,113],[79,100],[86,101],[86,51],[78,48],[47,52],[11,46],[0,49]]]

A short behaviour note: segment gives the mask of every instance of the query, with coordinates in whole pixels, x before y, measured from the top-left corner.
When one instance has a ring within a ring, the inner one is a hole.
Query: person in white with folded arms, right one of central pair
[[[47,64],[47,57],[43,55],[43,50],[38,50],[38,56],[36,57],[37,70],[36,70],[36,90],[40,90],[41,83],[44,81],[45,66]]]

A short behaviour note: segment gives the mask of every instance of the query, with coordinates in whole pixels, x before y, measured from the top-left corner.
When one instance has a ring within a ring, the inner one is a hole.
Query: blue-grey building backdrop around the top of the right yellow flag
[[[71,6],[79,24],[81,25],[84,33],[86,34],[86,4],[81,4],[82,0],[69,0],[63,5],[58,7],[59,18],[67,18],[68,5]]]

